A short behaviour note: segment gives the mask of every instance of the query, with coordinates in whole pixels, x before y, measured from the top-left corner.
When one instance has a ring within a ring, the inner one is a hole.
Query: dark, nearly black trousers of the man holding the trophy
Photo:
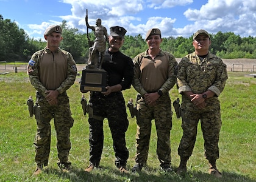
[[[111,93],[104,96],[94,92],[90,98],[93,115],[89,116],[89,143],[90,143],[90,163],[99,166],[103,149],[104,132],[103,120],[107,118],[113,139],[115,151],[115,165],[126,166],[129,158],[129,151],[126,147],[126,131],[129,125],[127,120],[126,105],[121,92]]]

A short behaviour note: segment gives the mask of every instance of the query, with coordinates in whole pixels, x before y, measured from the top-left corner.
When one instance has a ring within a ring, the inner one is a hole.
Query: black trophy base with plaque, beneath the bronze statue
[[[104,69],[84,69],[82,70],[82,79],[80,91],[105,92],[108,75]]]

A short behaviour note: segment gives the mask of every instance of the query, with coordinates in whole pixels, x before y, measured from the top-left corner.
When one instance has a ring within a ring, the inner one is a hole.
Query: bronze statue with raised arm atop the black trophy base
[[[107,43],[107,29],[101,25],[101,19],[96,19],[96,26],[90,26],[88,24],[88,15],[85,16],[85,23],[87,28],[93,30],[95,35],[94,44],[89,48],[88,68],[101,69],[102,60],[104,58],[104,52]],[[99,59],[99,53],[101,53],[101,59]]]

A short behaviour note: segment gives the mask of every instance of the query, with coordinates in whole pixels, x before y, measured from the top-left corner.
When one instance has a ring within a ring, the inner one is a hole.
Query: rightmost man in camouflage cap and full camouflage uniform
[[[209,162],[208,172],[222,177],[216,167],[222,123],[218,96],[224,90],[228,76],[226,64],[208,51],[210,44],[208,32],[198,30],[193,36],[195,51],[182,58],[178,65],[177,86],[182,95],[183,136],[178,149],[180,165],[177,174],[187,172],[187,161],[193,152],[200,120],[205,157]]]

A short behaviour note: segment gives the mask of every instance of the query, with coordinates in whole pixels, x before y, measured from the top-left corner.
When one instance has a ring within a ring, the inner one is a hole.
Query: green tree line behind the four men
[[[80,33],[78,29],[68,27],[66,21],[62,21],[63,41],[60,47],[70,52],[77,63],[85,63],[88,58],[89,42],[86,33]],[[15,21],[4,19],[0,15],[0,61],[28,61],[32,54],[46,46],[43,39],[30,38],[23,29],[20,29]],[[243,37],[233,32],[221,32],[211,34],[212,45],[210,52],[223,59],[251,58],[256,59],[256,38]],[[94,33],[88,35],[94,40]],[[163,38],[161,47],[172,53],[176,58],[182,58],[188,53],[194,52],[191,35],[189,38],[169,36]],[[148,48],[142,36],[126,35],[121,51],[134,58],[138,53]]]

